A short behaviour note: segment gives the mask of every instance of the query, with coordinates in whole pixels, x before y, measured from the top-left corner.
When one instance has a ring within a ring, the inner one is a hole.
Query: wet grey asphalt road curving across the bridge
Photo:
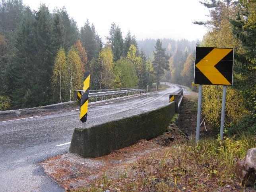
[[[86,125],[167,105],[169,94],[179,89],[176,85],[170,86],[158,93],[90,103]],[[70,109],[0,122],[0,191],[64,191],[43,172],[38,163],[68,152],[74,128],[81,127],[79,113],[80,110]]]

